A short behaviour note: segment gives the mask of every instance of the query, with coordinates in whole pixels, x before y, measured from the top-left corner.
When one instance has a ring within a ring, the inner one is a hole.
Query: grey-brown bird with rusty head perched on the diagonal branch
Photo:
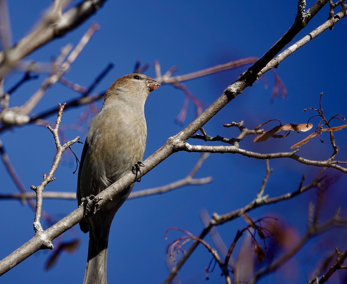
[[[145,101],[160,83],[143,74],[118,78],[105,93],[102,108],[90,123],[82,150],[77,179],[77,204],[95,196],[139,165],[147,139]],[[142,163],[141,163],[142,164]],[[89,232],[84,284],[106,284],[106,262],[110,227],[117,210],[128,198],[127,187],[94,215],[79,222]]]

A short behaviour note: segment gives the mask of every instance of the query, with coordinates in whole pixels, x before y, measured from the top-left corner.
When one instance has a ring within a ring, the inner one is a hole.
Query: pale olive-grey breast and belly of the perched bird
[[[117,181],[136,162],[142,161],[147,138],[144,115],[103,117],[108,119],[93,121],[87,136],[93,180],[101,184],[96,191]]]

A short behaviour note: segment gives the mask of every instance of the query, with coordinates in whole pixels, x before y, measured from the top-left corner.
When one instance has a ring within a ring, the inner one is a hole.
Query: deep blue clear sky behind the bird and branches
[[[49,4],[46,1],[37,1],[35,4],[30,1],[8,2],[14,42],[31,30]],[[307,2],[307,7],[310,7],[314,1]],[[49,61],[52,56],[57,56],[60,48],[67,43],[76,45],[95,21],[100,25],[100,30],[94,34],[64,77],[88,86],[101,70],[112,62],[115,68],[103,78],[95,90],[102,92],[116,78],[132,73],[137,60],[148,62],[151,67],[145,74],[154,77],[154,60],[159,60],[162,73],[176,65],[178,70],[175,74],[179,75],[240,58],[261,57],[293,24],[296,5],[296,1],[284,3],[271,0],[107,1],[96,15],[75,31],[45,45],[26,59]],[[328,7],[325,7],[304,31],[299,33],[295,41],[321,25],[327,17]],[[346,28],[347,20],[342,19],[333,31],[325,31],[279,65],[276,72],[287,88],[287,99],[276,98],[273,103],[270,102],[274,77],[268,72],[267,89],[261,78],[206,124],[205,131],[211,136],[231,138],[238,135],[238,130],[222,126],[231,121],[244,120],[247,128],[254,128],[269,119],[280,119],[282,124],[306,123],[315,113],[302,110],[318,108],[321,92],[324,93],[322,107],[328,118],[335,114],[347,115]],[[248,66],[237,68],[184,84],[207,107],[247,68]],[[5,81],[5,90],[21,76],[21,73],[12,73]],[[22,105],[37,90],[45,76],[40,75],[39,80],[30,81],[20,87],[11,95],[11,106]],[[78,93],[56,84],[46,93],[33,114],[76,97]],[[194,119],[195,109],[192,102],[189,102],[184,125],[175,123],[183,101],[184,93],[169,85],[162,85],[151,93],[145,106],[148,128],[145,158]],[[101,105],[102,101],[97,102],[98,109]],[[84,110],[85,107],[79,107],[65,111],[62,127],[76,125]],[[56,116],[47,119],[53,126]],[[315,128],[319,119],[315,118],[311,123]],[[341,124],[336,121],[333,126]],[[273,122],[265,128],[268,130],[276,125],[276,122]],[[68,140],[80,135],[84,142],[87,127],[88,123],[85,123],[78,130],[66,130],[64,133]],[[308,133],[312,132],[313,130]],[[347,160],[346,133],[342,130],[335,134],[336,144],[341,148],[338,160]],[[306,136],[307,133],[291,133],[286,139],[271,139],[263,143],[253,143],[254,137],[248,136],[240,143],[240,148],[260,153],[290,151],[291,145]],[[298,154],[309,159],[329,158],[332,148],[328,133],[323,133],[322,138],[324,144],[313,139],[300,148]],[[56,151],[51,133],[45,127],[28,125],[1,133],[0,139],[25,187],[30,190],[30,185],[39,185],[42,174],[49,172]],[[212,145],[198,140],[189,140],[189,143]],[[82,145],[73,145],[73,150],[80,157]],[[134,190],[160,186],[183,178],[199,156],[197,153],[186,152],[172,155],[147,174],[141,183],[136,184]],[[75,192],[77,174],[72,174],[75,166],[73,155],[66,152],[54,175],[56,180],[45,190]],[[274,168],[274,172],[265,190],[270,197],[296,190],[302,174],[307,174],[308,182],[320,171],[320,168],[304,166],[289,159],[272,160],[270,166]],[[17,192],[2,163],[0,173],[0,192]],[[339,179],[328,190],[322,221],[331,217],[338,206],[346,203],[346,177],[333,170],[328,173]],[[256,196],[264,174],[263,160],[232,154],[211,154],[197,177],[212,176],[213,183],[187,186],[164,195],[128,200],[117,213],[111,228],[108,282],[161,283],[168,274],[165,264],[166,247],[170,241],[181,236],[170,232],[168,240],[165,240],[166,229],[175,226],[198,235],[203,228],[199,218],[200,210],[206,209],[210,215],[213,212],[221,215],[245,206]],[[253,219],[276,215],[280,218],[279,222],[296,228],[293,228],[293,234],[303,235],[307,224],[308,204],[315,198],[316,190],[312,190],[293,200],[254,210],[249,215]],[[3,258],[33,236],[34,212],[17,200],[1,201],[1,206],[0,258]],[[43,203],[44,210],[56,220],[65,217],[76,206],[76,201],[44,200]],[[341,214],[347,215],[344,207]],[[44,228],[48,227],[43,220],[42,223]],[[237,230],[246,225],[244,219],[239,218],[219,226],[218,231],[229,247]],[[343,237],[345,233],[335,230],[325,233],[321,239],[313,239],[279,273],[265,277],[259,283],[306,283],[323,256],[335,247],[346,249]],[[3,275],[1,283],[82,283],[88,235],[75,226],[63,236],[66,242],[75,238],[81,240],[77,251],[73,254],[62,253],[57,264],[49,271],[44,271],[43,267],[51,251],[39,251]],[[244,239],[245,237],[241,238],[236,245],[234,258]],[[206,241],[215,247],[210,237],[207,237]],[[199,246],[179,273],[181,283],[205,283],[204,268],[210,260],[208,251]],[[338,280],[336,281],[338,283]],[[225,283],[218,268],[210,274],[208,283]]]

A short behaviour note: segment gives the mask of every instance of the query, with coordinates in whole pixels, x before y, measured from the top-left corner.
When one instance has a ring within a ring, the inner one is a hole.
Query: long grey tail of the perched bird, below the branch
[[[110,227],[111,222],[94,229],[90,226],[84,284],[107,284],[106,261]]]

